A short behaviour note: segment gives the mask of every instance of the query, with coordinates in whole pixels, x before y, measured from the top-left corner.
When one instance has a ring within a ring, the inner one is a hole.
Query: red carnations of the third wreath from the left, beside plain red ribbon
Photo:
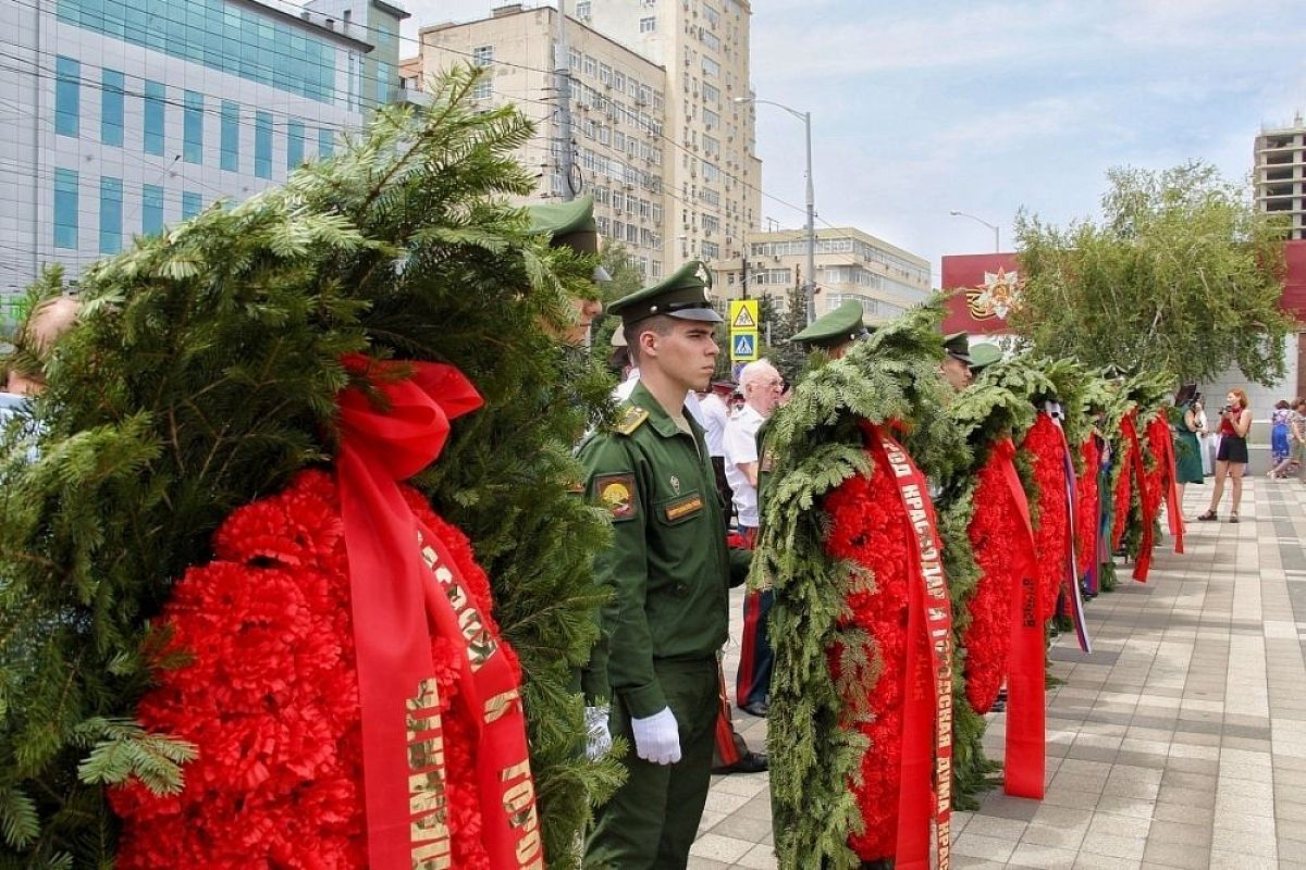
[[[1020,507],[1011,493],[1003,468],[990,458],[980,470],[974,490],[976,511],[966,530],[980,566],[980,582],[968,609],[970,625],[963,635],[966,651],[966,698],[976,712],[993,708],[998,690],[1007,676],[1011,652],[1011,599],[1019,591],[1020,573],[1025,563],[1016,544],[1029,532],[1021,526]]]

